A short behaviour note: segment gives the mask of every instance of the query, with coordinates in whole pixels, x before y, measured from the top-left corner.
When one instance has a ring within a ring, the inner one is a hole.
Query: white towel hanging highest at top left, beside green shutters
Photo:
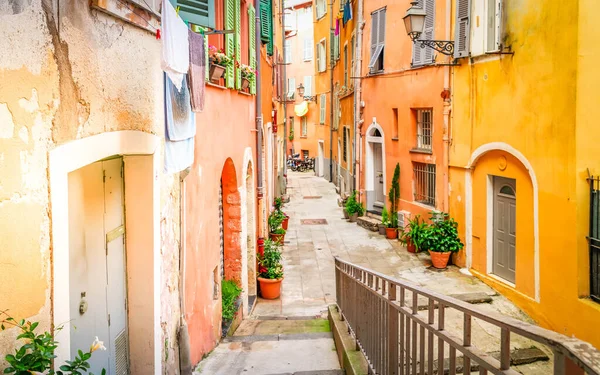
[[[168,0],[162,3],[161,67],[175,87],[181,89],[183,75],[190,66],[188,28]]]

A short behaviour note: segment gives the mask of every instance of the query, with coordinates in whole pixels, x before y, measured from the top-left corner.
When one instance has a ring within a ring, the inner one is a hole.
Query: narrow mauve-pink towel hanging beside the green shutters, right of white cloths
[[[190,39],[190,96],[192,111],[204,110],[204,88],[206,79],[206,50],[204,49],[204,36],[188,31]]]

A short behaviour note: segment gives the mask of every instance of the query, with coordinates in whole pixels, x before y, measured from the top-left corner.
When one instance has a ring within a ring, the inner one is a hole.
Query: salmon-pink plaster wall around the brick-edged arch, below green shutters
[[[221,298],[213,299],[212,282],[213,270],[220,264],[219,185],[228,158],[238,185],[245,184],[242,164],[247,147],[256,160],[254,117],[254,96],[214,86],[207,86],[204,112],[196,117],[195,161],[185,180],[185,317],[193,364],[215,347],[221,332]]]

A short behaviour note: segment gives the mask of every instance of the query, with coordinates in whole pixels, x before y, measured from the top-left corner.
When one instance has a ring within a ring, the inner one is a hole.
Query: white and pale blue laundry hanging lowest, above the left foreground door
[[[181,86],[177,90],[165,75],[165,173],[180,172],[194,163],[196,116],[185,75]]]

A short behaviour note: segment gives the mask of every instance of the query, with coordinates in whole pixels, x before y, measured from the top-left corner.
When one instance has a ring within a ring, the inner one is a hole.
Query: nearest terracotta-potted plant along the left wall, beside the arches
[[[264,254],[258,254],[258,282],[260,293],[265,299],[275,299],[281,294],[283,265],[281,248],[276,242],[265,240]]]

